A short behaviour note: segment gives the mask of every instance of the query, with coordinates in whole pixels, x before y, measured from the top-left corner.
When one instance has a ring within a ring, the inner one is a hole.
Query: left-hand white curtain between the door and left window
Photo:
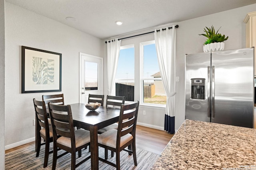
[[[108,94],[114,96],[114,85],[116,78],[116,68],[118,64],[121,40],[110,40],[107,42],[107,69],[108,69]]]

